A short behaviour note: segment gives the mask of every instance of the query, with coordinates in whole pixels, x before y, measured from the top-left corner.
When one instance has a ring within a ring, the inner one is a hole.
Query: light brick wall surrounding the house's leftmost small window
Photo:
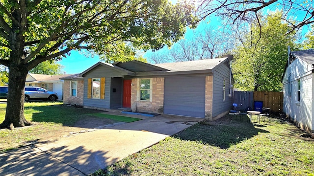
[[[71,81],[64,80],[63,103],[83,106],[84,80],[78,80],[78,89],[76,97],[71,96],[70,94],[70,84]]]

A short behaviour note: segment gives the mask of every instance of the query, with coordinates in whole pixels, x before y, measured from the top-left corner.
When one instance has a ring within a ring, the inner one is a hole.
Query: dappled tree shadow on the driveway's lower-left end
[[[91,151],[83,146],[61,146],[45,150],[47,143],[50,141],[1,153],[1,175],[86,176],[118,160],[105,157],[107,152]]]

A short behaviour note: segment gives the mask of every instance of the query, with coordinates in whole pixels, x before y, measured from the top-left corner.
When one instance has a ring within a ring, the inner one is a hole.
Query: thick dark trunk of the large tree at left
[[[16,12],[17,13],[17,12]],[[20,18],[18,14],[16,18]],[[13,23],[14,31],[19,30],[19,26]],[[1,128],[13,130],[14,127],[24,127],[32,125],[24,116],[24,87],[26,75],[28,72],[27,65],[24,63],[24,40],[21,33],[14,33],[10,39],[10,62],[9,68],[9,88],[6,105],[5,119],[0,124]]]

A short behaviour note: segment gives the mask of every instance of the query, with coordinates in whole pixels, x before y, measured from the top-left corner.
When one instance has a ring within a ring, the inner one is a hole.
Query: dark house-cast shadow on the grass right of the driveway
[[[248,122],[233,122],[234,124],[230,121],[226,122],[226,119],[221,119],[214,124],[199,123],[173,136],[182,140],[198,141],[221,149],[228,149],[230,146],[251,138],[259,132],[268,132],[255,128],[254,124]],[[265,127],[263,125],[257,126]]]

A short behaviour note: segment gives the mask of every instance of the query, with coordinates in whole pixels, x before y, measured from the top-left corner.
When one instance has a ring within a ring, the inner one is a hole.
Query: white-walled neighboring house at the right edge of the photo
[[[300,128],[314,132],[314,50],[289,53],[283,76],[283,111]]]

